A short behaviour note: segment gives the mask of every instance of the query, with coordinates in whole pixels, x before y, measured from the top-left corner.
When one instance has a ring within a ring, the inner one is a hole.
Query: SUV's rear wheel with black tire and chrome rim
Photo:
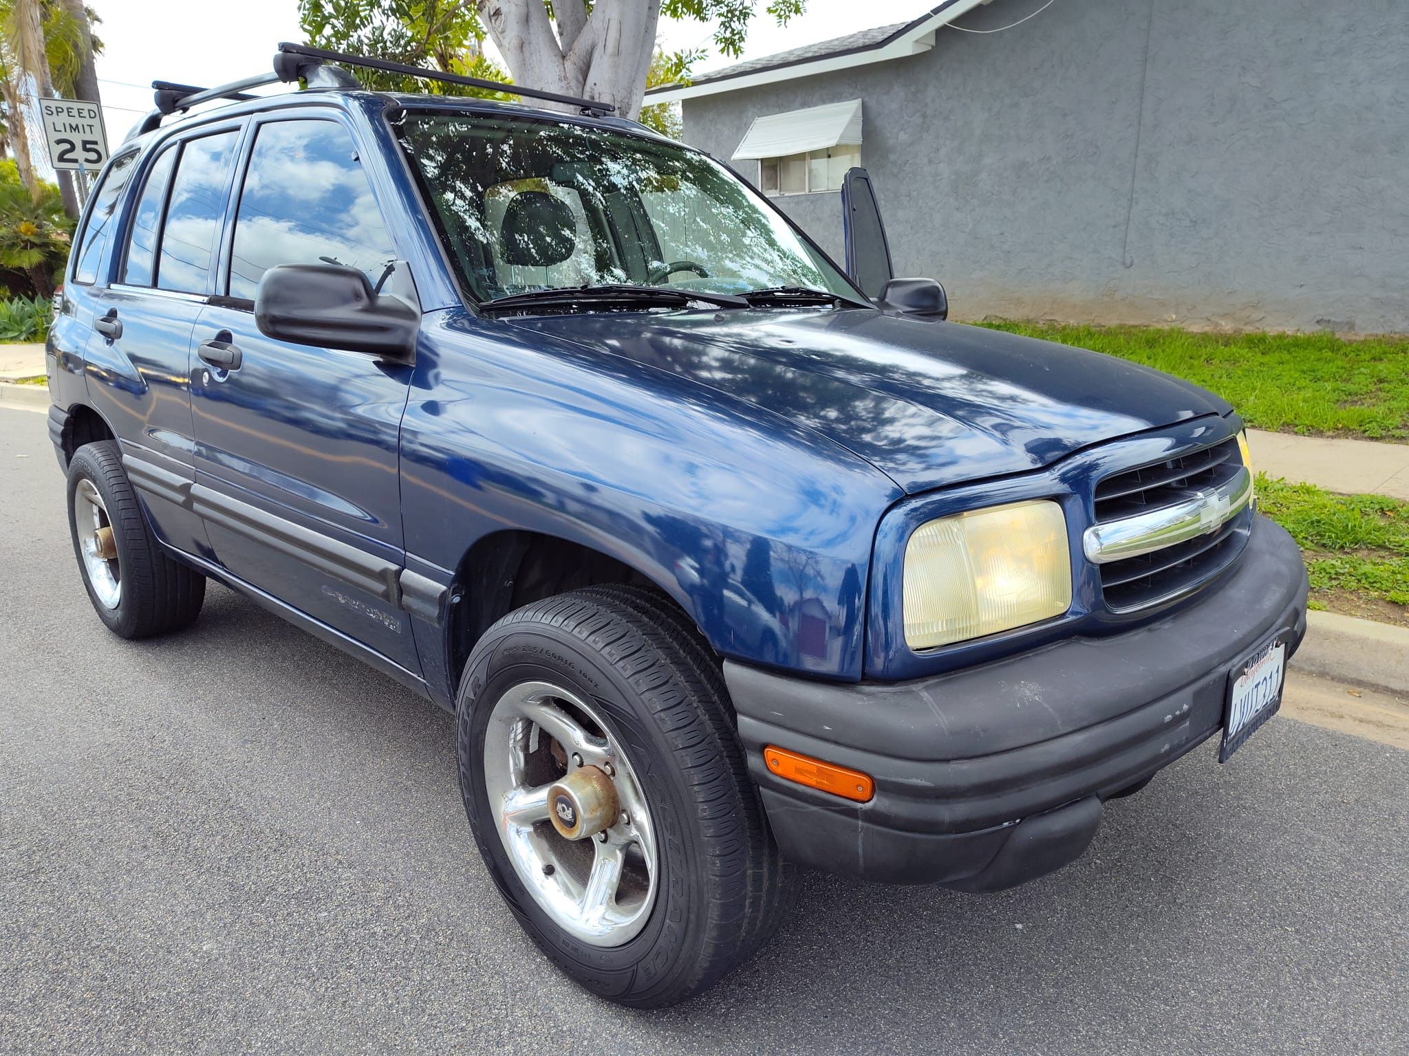
[[[68,496],[73,556],[108,631],[149,638],[200,615],[206,577],[168,558],[156,542],[123,470],[117,441],[85,444],[73,453]]]

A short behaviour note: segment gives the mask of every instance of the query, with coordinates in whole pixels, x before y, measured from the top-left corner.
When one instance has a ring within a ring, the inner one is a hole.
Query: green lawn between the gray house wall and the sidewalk
[[[1260,429],[1409,442],[1409,337],[979,325],[1131,359],[1210,389]]]

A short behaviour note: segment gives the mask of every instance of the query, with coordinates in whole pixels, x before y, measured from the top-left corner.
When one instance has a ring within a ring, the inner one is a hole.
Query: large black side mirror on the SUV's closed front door
[[[378,294],[366,276],[342,265],[279,265],[259,279],[255,324],[276,341],[410,359],[420,308]]]

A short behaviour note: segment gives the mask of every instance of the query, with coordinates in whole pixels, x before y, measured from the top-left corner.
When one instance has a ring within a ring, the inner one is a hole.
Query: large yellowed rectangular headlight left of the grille
[[[1061,505],[1013,503],[921,524],[905,546],[902,594],[912,649],[1061,615],[1071,607]]]

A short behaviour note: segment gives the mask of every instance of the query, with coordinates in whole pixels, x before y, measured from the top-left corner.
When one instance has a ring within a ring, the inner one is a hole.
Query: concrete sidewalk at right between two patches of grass
[[[1247,431],[1253,469],[1341,494],[1409,500],[1409,444]]]

